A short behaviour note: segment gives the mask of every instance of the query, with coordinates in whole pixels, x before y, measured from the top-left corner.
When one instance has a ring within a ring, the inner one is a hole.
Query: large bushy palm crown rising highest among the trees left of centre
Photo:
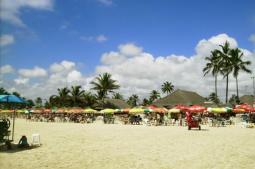
[[[99,99],[104,99],[107,97],[108,92],[113,92],[113,90],[119,89],[119,85],[116,84],[116,80],[111,78],[111,74],[104,73],[96,77],[95,81],[92,81],[91,84],[94,86],[91,89],[97,91]]]

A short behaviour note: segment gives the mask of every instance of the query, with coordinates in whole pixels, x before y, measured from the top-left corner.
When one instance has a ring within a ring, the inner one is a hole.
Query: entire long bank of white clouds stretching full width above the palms
[[[84,89],[90,89],[89,83],[95,76],[109,72],[120,84],[119,92],[126,98],[131,94],[138,94],[141,99],[148,97],[151,90],[160,91],[161,85],[165,81],[172,82],[175,88],[192,90],[203,96],[208,96],[214,91],[214,78],[211,75],[203,76],[202,69],[206,63],[204,58],[207,56],[205,54],[214,47],[218,48],[217,45],[226,40],[230,41],[233,47],[237,46],[235,39],[226,34],[221,34],[198,42],[196,53],[191,57],[175,54],[153,56],[133,43],[122,44],[116,51],[102,54],[101,64],[96,67],[95,73],[92,75],[85,76],[78,70],[77,63],[64,60],[53,63],[46,69],[49,75],[36,82],[34,82],[36,79],[33,81],[24,80],[35,76],[31,75],[31,72],[36,72],[35,68],[25,69],[29,71],[23,72],[23,75],[19,74],[20,77],[15,79],[15,83],[7,83],[3,79],[1,86],[6,87],[6,89],[15,88],[28,98],[37,96],[46,98],[56,94],[57,88],[66,86],[81,85]],[[202,46],[207,50],[202,50]],[[255,72],[255,53],[246,49],[242,49],[242,51],[244,52],[244,60],[252,61],[249,68]],[[240,73],[238,77],[240,95],[252,93],[250,76],[250,74]],[[225,79],[219,76],[218,92],[222,100],[224,100],[225,86]],[[229,87],[229,96],[231,96],[236,92],[235,79],[232,75],[229,78]]]

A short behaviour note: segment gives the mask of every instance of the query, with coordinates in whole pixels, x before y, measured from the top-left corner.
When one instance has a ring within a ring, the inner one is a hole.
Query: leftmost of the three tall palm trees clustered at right
[[[207,61],[206,66],[203,69],[204,76],[207,75],[209,72],[212,73],[212,75],[215,78],[215,95],[218,96],[217,92],[217,76],[220,72],[220,53],[217,50],[211,51],[211,55],[209,57],[206,57],[205,60]]]

